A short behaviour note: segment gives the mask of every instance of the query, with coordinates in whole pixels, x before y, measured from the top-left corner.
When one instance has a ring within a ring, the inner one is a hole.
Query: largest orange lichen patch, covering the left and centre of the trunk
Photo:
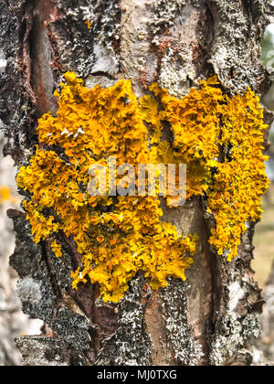
[[[17,176],[19,187],[31,194],[24,207],[34,240],[49,239],[59,257],[61,247],[51,239],[58,231],[73,237],[84,265],[72,272],[73,287],[90,278],[100,284],[105,301],[118,302],[139,271],[153,289],[166,286],[171,276],[184,280],[197,237],[183,238],[172,224],[162,222],[157,197],[114,199],[88,191],[90,166],[106,165],[115,156],[117,165],[131,163],[137,169],[152,157],[131,81],[89,90],[75,74],[65,78],[68,84],[56,92],[57,117],[47,113],[39,120],[43,148],[37,147],[30,165]]]

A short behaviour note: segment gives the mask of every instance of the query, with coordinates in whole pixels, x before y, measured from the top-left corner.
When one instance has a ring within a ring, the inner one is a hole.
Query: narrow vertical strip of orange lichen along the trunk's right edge
[[[216,218],[210,243],[219,254],[229,251],[227,260],[237,256],[241,235],[247,231],[248,220],[261,219],[260,197],[269,187],[263,155],[263,110],[259,99],[248,90],[243,96],[226,98],[222,112],[222,139],[227,157],[216,165],[208,210]]]

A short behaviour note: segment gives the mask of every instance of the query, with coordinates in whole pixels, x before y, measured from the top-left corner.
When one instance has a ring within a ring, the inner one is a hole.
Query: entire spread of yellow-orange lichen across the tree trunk
[[[261,152],[266,126],[254,93],[229,98],[215,77],[183,100],[153,84],[157,99],[138,101],[130,80],[90,90],[72,72],[65,78],[55,93],[57,116],[49,112],[39,120],[36,155],[17,183],[30,193],[24,207],[34,240],[50,240],[58,257],[58,234],[75,242],[83,265],[71,274],[73,287],[89,278],[100,284],[105,301],[118,302],[137,272],[158,289],[168,277],[184,280],[193,263],[197,236],[183,238],[164,222],[158,197],[90,196],[90,167],[107,165],[110,156],[135,170],[186,164],[187,197],[204,196],[216,218],[210,242],[220,254],[230,251],[229,260],[235,257],[268,187]],[[163,140],[167,124],[169,141]],[[172,197],[166,197],[169,206]]]

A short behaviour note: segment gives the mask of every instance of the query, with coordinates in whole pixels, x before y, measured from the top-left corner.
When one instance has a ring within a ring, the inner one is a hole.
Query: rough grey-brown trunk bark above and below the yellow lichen
[[[57,108],[52,91],[74,70],[87,86],[131,79],[135,93],[159,81],[184,96],[216,73],[225,91],[248,86],[259,95],[271,74],[259,42],[273,9],[267,0],[0,0],[5,154],[23,165],[37,144],[37,117]],[[91,28],[85,24],[90,20]],[[269,113],[266,118],[271,120]],[[201,241],[187,283],[170,280],[152,292],[142,275],[120,304],[102,304],[96,286],[70,288],[71,245],[57,260],[47,242],[35,245],[25,215],[9,211],[16,229],[11,264],[20,275],[24,312],[46,322],[45,336],[19,337],[26,365],[248,365],[248,339],[258,336],[263,300],[253,281],[253,227],[236,261],[207,243],[212,223],[203,201],[168,210],[165,219]]]

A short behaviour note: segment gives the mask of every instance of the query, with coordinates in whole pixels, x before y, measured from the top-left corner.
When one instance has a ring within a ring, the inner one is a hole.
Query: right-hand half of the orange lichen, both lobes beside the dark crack
[[[218,254],[226,251],[231,261],[248,220],[261,218],[260,197],[269,187],[264,164],[268,157],[262,153],[268,125],[259,99],[249,89],[236,97],[224,95],[216,76],[202,81],[201,89],[190,91],[183,100],[157,84],[151,91],[163,105],[158,112],[154,99],[146,97],[143,108],[148,110],[151,104],[145,120],[153,128],[158,157],[187,165],[187,197],[206,197],[208,212],[216,219],[209,242]],[[172,144],[160,143],[161,121],[170,124]]]

